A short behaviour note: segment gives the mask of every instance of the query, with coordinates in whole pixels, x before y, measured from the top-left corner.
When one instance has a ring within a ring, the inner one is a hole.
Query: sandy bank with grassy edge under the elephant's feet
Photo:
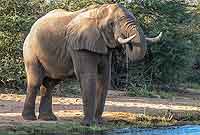
[[[84,127],[82,100],[79,97],[54,97],[53,109],[59,120],[24,121],[21,111],[25,95],[0,94],[0,131],[22,132],[100,132],[122,127],[158,127],[199,124],[200,96],[182,94],[170,99],[128,97],[124,92],[110,91],[103,114],[104,125]],[[37,97],[38,112],[40,97]]]

